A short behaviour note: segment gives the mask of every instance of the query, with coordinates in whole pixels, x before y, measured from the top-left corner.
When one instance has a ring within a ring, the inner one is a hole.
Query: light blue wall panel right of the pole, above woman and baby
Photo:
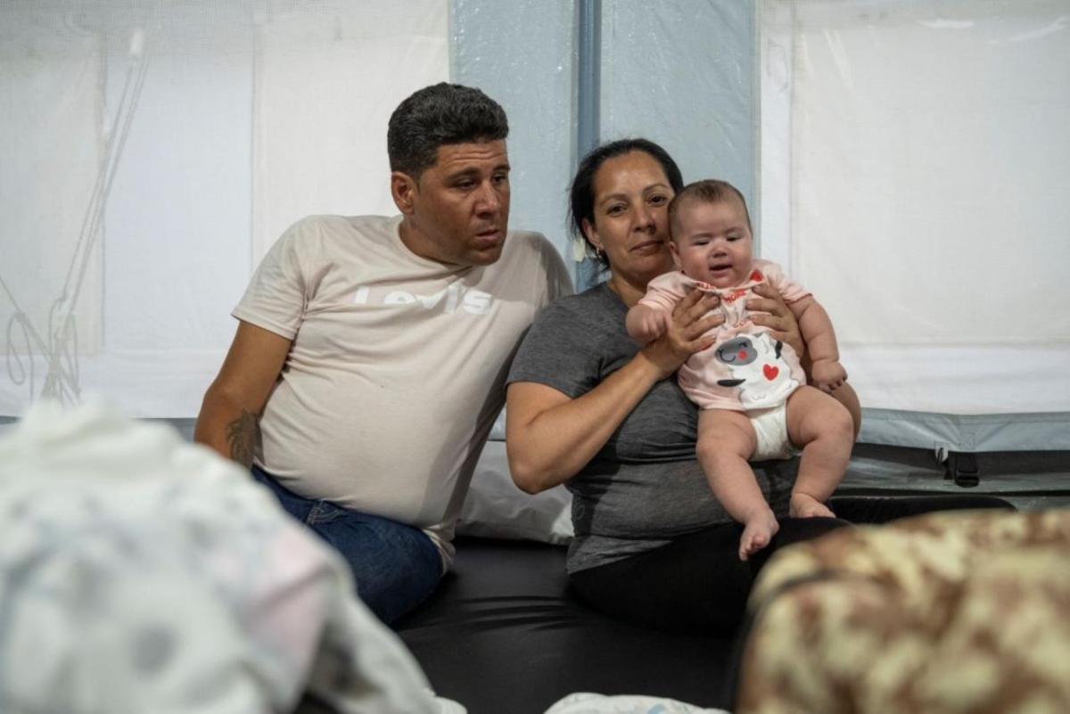
[[[606,0],[602,140],[652,139],[685,182],[729,181],[756,217],[755,32],[751,0]]]

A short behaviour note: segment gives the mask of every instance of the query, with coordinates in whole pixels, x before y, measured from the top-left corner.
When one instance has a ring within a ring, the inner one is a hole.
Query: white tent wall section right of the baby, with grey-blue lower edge
[[[1070,2],[765,0],[762,248],[861,439],[1070,449]]]

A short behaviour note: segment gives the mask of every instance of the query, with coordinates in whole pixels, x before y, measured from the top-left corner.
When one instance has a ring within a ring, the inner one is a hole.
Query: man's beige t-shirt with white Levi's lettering
[[[412,253],[401,217],[291,227],[233,315],[293,341],[255,462],[306,498],[425,530],[448,565],[475,461],[535,313],[571,292],[553,247],[510,232],[501,259]]]

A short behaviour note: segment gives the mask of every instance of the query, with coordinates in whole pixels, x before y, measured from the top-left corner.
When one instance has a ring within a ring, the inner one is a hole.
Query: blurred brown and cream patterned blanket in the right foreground
[[[836,531],[750,611],[737,714],[1070,712],[1070,510]]]

